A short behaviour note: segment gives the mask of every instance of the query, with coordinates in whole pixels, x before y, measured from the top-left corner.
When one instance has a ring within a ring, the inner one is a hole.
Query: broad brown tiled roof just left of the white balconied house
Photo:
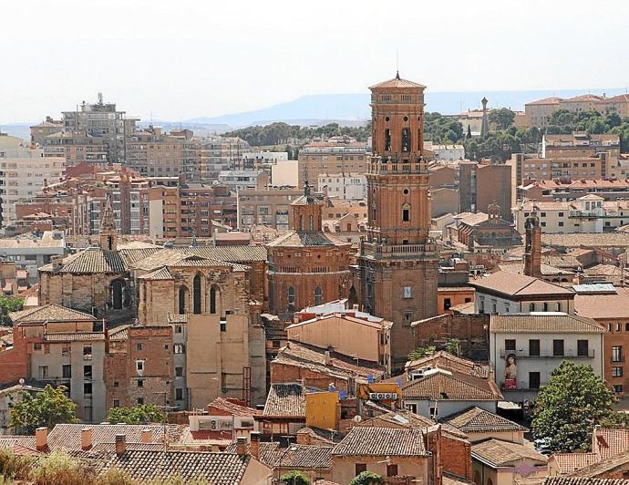
[[[499,401],[502,399],[500,390],[492,381],[442,368],[404,385],[402,397],[409,400],[431,401]]]

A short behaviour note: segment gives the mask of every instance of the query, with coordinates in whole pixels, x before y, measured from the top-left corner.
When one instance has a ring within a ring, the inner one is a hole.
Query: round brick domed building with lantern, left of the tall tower
[[[296,310],[344,298],[349,291],[352,245],[322,229],[323,198],[304,195],[291,204],[291,231],[267,244],[269,307],[290,317]]]

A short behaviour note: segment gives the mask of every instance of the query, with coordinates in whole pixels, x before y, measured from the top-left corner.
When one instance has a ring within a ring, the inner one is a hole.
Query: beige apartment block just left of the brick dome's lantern
[[[254,225],[287,231],[291,203],[304,191],[297,189],[248,189],[238,191],[238,229],[250,231]]]

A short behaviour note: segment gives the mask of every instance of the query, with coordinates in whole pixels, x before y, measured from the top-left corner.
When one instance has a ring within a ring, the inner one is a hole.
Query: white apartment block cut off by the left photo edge
[[[9,137],[14,138],[14,137]],[[2,223],[15,222],[15,202],[36,195],[47,182],[58,181],[66,170],[63,157],[44,157],[44,151],[15,139],[14,148],[0,149]]]

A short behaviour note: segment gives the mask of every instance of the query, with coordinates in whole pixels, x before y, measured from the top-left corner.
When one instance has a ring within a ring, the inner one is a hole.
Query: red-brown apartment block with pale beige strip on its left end
[[[210,237],[212,221],[235,228],[236,214],[236,196],[224,185],[180,181],[149,189],[151,237]]]

